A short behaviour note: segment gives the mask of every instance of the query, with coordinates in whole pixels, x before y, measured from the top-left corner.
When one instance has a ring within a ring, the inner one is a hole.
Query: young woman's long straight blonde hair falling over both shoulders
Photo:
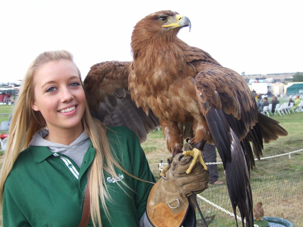
[[[32,110],[31,106],[34,101],[33,92],[33,77],[38,67],[50,61],[58,61],[67,59],[73,61],[73,56],[70,52],[61,51],[46,51],[40,54],[29,66],[25,78],[22,81],[18,100],[12,114],[12,121],[9,129],[9,137],[7,149],[4,155],[4,162],[0,174],[0,209],[2,211],[3,191],[6,178],[11,172],[12,167],[22,150],[28,147],[33,135],[40,129],[46,127],[46,122],[42,114]],[[77,67],[78,69],[78,67]],[[79,77],[81,80],[81,74]],[[82,84],[83,86],[83,84]],[[118,178],[114,166],[117,166],[123,172],[126,172],[113,158],[108,139],[106,136],[106,127],[99,120],[92,117],[86,103],[85,111],[82,117],[82,124],[88,137],[92,140],[95,148],[95,159],[88,173],[89,189],[91,195],[91,215],[94,226],[102,226],[100,215],[100,202],[105,210],[106,216],[110,219],[106,200],[111,201],[106,184],[104,183],[104,174],[102,169],[108,172],[113,177]],[[24,136],[25,135],[25,136]],[[106,163],[104,162],[106,160]],[[128,173],[128,175],[131,175]],[[132,175],[131,175],[132,176]],[[136,178],[136,177],[135,177]]]

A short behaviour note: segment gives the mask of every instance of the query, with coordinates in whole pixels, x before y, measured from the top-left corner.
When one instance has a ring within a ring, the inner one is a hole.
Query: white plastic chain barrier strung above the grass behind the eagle
[[[284,154],[278,154],[278,155],[273,155],[273,156],[268,156],[268,157],[262,157],[260,158],[261,160],[262,159],[269,159],[269,158],[276,158],[276,157],[280,157],[280,156],[284,156],[284,155],[288,155],[289,159],[291,158],[291,154],[293,153],[297,153],[299,151],[303,151],[303,149],[300,149],[300,150],[295,150],[295,151],[291,151],[291,152],[287,152],[287,153],[284,153]],[[255,158],[255,161],[258,161],[257,158]],[[205,163],[206,165],[215,165],[215,164],[223,164],[223,162],[210,162],[210,163]],[[158,167],[159,167],[159,170],[162,171],[162,168],[164,165],[167,165],[166,163],[159,163],[158,164]],[[200,196],[200,195],[197,195],[198,198],[204,200],[205,202],[209,203],[210,205],[218,208],[219,210],[225,212],[226,214],[229,214],[231,216],[235,216],[233,213],[229,212],[228,210],[225,210],[224,208],[216,205],[215,203],[209,201],[208,199],[205,199],[204,197]],[[241,217],[239,217],[238,215],[236,215],[236,218],[240,221],[242,221]],[[246,221],[244,220],[244,222],[246,223]],[[259,227],[258,225],[254,224],[254,227]]]

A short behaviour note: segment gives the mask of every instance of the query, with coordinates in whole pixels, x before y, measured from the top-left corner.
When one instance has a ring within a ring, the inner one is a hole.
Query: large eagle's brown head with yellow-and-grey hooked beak
[[[142,48],[146,43],[161,45],[174,40],[183,27],[191,28],[190,20],[177,12],[163,10],[141,19],[132,32],[132,51]]]

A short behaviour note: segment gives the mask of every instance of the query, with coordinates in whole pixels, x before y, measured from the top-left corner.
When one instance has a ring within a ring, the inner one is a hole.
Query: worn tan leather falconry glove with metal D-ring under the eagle
[[[149,192],[146,214],[154,227],[196,226],[192,192],[198,194],[208,188],[209,176],[200,163],[186,174],[192,156],[179,161],[181,154],[175,156],[165,173],[167,180],[160,178]]]

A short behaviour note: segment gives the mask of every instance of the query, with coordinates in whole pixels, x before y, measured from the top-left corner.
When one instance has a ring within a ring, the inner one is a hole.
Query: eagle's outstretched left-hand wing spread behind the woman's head
[[[151,110],[147,116],[132,101],[128,92],[130,64],[119,61],[95,64],[85,77],[84,87],[94,117],[106,125],[128,127],[142,143],[160,123]]]

